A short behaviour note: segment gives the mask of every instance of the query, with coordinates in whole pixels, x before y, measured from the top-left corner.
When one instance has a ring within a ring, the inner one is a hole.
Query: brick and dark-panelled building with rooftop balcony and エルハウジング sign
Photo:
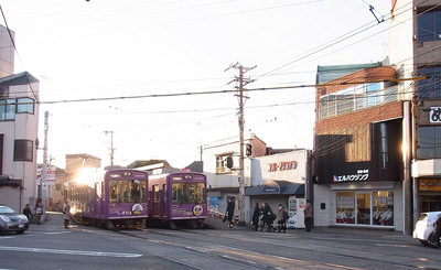
[[[380,63],[319,66],[314,224],[404,229],[402,101]]]

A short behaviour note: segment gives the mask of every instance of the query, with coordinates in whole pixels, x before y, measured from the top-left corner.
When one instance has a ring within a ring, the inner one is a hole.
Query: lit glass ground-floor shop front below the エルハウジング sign
[[[315,185],[315,225],[400,229],[401,186],[397,182]]]

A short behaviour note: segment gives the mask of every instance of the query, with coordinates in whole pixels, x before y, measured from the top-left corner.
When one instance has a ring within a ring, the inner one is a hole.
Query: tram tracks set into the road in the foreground
[[[319,236],[311,239],[310,245],[295,245],[295,240],[300,240],[295,235],[279,234],[273,237],[275,234],[261,234],[266,241],[261,245],[262,238],[250,237],[249,234],[214,235],[212,231],[142,229],[112,233],[125,236],[125,245],[191,269],[207,269],[207,266],[213,266],[213,269],[217,266],[222,269],[441,269],[438,267],[441,260],[437,257],[422,259],[411,252],[397,256],[388,251],[409,248],[402,241],[390,239],[378,241],[366,238],[362,240],[363,246],[338,236],[326,239]],[[334,247],[321,247],[319,242],[324,240],[333,241]],[[172,256],[179,253],[181,256]],[[197,260],[192,262],[189,258]]]

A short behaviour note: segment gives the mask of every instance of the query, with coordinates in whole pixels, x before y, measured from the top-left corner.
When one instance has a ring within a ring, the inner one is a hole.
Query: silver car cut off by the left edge
[[[6,205],[0,205],[0,234],[7,231],[23,234],[28,228],[29,220],[26,216],[18,214]]]

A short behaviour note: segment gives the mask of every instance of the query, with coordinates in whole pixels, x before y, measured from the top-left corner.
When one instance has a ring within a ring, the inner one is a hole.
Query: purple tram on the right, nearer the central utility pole
[[[207,217],[206,176],[175,172],[149,176],[148,225],[203,227]]]

